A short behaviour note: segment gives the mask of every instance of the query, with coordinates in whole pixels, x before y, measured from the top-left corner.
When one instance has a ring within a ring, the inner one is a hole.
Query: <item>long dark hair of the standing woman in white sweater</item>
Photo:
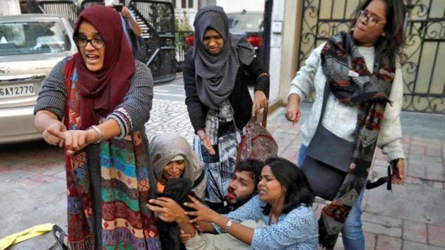
[[[373,0],[364,1],[358,6],[355,13],[364,10]],[[376,60],[380,61],[383,56],[388,56],[391,63],[396,58],[401,58],[403,45],[405,44],[405,16],[406,7],[401,0],[384,0],[386,3],[385,36],[379,38],[374,44],[376,48]],[[355,15],[354,13],[354,15]],[[357,17],[352,19],[351,27],[357,22]]]

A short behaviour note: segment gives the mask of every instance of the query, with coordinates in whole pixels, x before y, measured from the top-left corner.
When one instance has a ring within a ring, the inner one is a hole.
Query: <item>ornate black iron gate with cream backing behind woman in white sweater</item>
[[[360,2],[304,0],[298,69],[312,49],[349,30]],[[403,109],[445,114],[445,1],[405,0],[405,4],[409,22],[402,56]]]

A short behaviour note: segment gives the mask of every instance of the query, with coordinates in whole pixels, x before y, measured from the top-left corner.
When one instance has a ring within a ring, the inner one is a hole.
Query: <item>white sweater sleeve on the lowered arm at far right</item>
[[[401,144],[401,110],[403,103],[403,76],[400,64],[396,64],[396,78],[394,78],[389,100],[392,102],[386,105],[384,121],[381,125],[377,146],[386,155],[386,160],[396,160],[405,158]]]

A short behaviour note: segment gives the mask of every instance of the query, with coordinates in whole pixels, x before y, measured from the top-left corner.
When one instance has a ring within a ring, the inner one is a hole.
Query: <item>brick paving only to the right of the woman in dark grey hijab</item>
[[[301,143],[299,124],[286,122],[281,109],[269,116],[268,129],[280,146],[280,156],[294,162]],[[302,106],[302,121],[310,104]],[[403,112],[403,148],[408,166],[405,184],[366,191],[362,203],[367,249],[445,249],[445,116]],[[386,176],[388,163],[378,150],[372,179]],[[323,201],[314,204],[317,216]],[[343,249],[341,238],[336,249]]]

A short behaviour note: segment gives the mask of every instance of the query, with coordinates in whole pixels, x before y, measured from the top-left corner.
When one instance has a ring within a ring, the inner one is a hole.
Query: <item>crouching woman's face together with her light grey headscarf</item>
[[[204,198],[206,174],[203,164],[196,157],[186,139],[177,133],[159,133],[150,142],[150,162],[158,181],[157,190],[162,193],[165,184],[172,178],[189,178],[191,191]]]

